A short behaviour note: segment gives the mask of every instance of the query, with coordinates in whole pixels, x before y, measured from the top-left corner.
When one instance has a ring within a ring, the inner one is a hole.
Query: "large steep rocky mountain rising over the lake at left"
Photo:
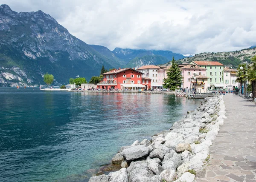
[[[67,84],[76,75],[98,76],[102,65],[122,65],[95,49],[41,10],[17,13],[0,6],[0,85],[44,84],[46,72],[54,75],[55,85]]]

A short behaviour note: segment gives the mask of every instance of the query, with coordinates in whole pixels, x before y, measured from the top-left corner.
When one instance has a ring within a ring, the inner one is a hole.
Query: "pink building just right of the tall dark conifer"
[[[191,87],[191,82],[192,82],[192,76],[196,77],[196,76],[204,76],[204,77],[198,77],[200,78],[200,80],[203,82],[205,82],[206,84],[204,85],[204,87],[208,87],[208,80],[207,80],[207,76],[206,76],[206,70],[207,68],[204,67],[199,67],[197,65],[185,65],[183,67],[180,68],[181,70],[181,74],[183,77],[183,82],[182,82],[182,88],[190,88]],[[202,79],[201,79],[202,78]]]

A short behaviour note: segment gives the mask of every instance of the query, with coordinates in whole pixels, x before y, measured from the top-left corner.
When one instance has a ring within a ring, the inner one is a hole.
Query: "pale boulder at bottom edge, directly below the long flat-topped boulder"
[[[146,161],[136,161],[131,162],[130,166],[127,168],[129,182],[144,182],[146,178],[151,178],[154,173],[149,170]],[[147,179],[148,180],[148,179]]]

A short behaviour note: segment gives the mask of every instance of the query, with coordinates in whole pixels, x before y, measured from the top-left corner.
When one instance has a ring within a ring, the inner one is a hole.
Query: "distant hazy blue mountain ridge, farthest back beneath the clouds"
[[[122,49],[122,48],[115,48],[113,51],[113,54],[116,55],[116,57],[127,60],[127,63],[130,60],[133,60],[135,57],[143,57],[143,56],[154,56],[159,55],[166,57],[168,60],[172,60],[172,57],[175,58],[175,60],[179,60],[184,58],[182,54],[176,54],[172,51],[156,51],[156,50],[144,50],[144,49]]]

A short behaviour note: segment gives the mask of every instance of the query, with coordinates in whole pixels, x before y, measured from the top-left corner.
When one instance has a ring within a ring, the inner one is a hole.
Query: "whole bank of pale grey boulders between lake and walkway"
[[[225,118],[223,96],[206,98],[195,111],[149,141],[135,141],[113,157],[121,169],[89,182],[193,182],[209,159],[209,146]]]

